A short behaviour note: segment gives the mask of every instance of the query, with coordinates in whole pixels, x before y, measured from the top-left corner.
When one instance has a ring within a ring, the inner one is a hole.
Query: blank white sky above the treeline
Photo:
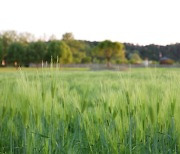
[[[0,31],[135,44],[180,42],[180,0],[0,0]]]

